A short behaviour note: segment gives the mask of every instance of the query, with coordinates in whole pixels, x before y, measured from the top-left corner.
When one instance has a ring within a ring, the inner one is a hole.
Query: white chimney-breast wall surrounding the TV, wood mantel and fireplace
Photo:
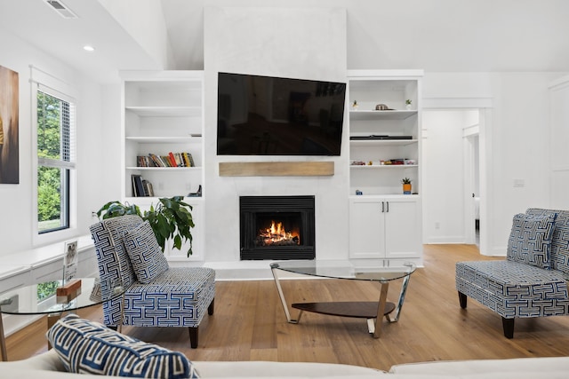
[[[209,262],[239,262],[240,195],[316,195],[317,257],[348,257],[348,164],[341,157],[216,155],[217,72],[346,81],[344,9],[206,8],[205,246]],[[348,144],[344,130],[342,144]],[[332,177],[221,178],[219,162],[332,161]],[[263,264],[268,267],[266,263]]]

